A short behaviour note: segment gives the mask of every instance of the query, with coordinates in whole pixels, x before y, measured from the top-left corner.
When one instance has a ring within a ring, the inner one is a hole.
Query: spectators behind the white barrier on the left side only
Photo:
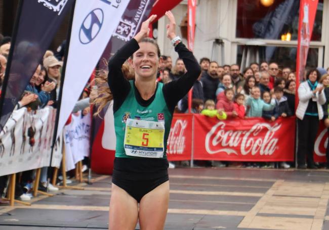
[[[63,43],[61,44],[62,47]],[[11,46],[11,38],[3,37],[0,40],[0,94],[3,86],[7,59]],[[33,73],[28,85],[26,86],[21,98],[19,99],[15,110],[22,107],[27,107],[28,111],[35,111],[43,109],[46,106],[57,108],[59,86],[61,81],[61,68],[63,65],[63,50],[58,49],[59,52],[53,52],[48,50],[42,62],[37,66]],[[62,51],[62,52],[61,52]],[[75,105],[73,113],[81,110],[82,116],[90,113],[90,82],[86,85],[86,89],[81,94],[80,101]],[[86,170],[87,160],[85,160],[84,170]],[[38,190],[46,192],[56,192],[58,188],[56,185],[49,183],[49,180],[53,176],[53,170],[51,167],[43,167],[40,172],[40,181]],[[15,197],[22,201],[28,201],[31,199],[32,181],[35,178],[35,170],[29,170],[19,173],[19,178],[16,181]],[[62,176],[58,177],[58,183],[60,183]],[[8,204],[7,200],[2,199],[4,191],[8,185],[8,176],[0,176],[0,205]],[[70,183],[69,179],[66,183]]]

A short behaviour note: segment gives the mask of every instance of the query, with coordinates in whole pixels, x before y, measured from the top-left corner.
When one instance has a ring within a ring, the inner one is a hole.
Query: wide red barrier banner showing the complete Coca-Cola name
[[[218,120],[194,115],[194,160],[294,161],[295,117]],[[188,144],[187,144],[188,145]]]

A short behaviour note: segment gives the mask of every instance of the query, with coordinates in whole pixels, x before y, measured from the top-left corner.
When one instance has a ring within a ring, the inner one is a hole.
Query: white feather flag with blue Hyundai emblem
[[[57,137],[96,67],[129,0],[76,0]]]

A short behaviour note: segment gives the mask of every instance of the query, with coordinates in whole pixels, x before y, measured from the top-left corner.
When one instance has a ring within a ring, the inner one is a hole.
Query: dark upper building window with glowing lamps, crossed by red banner
[[[297,0],[276,0],[265,7],[260,0],[237,0],[236,37],[281,39],[291,34],[298,39],[299,5]],[[319,0],[312,41],[321,40],[323,0]]]

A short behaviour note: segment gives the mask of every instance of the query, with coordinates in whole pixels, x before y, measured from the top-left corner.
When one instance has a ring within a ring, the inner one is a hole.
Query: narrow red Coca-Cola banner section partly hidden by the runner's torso
[[[175,114],[168,137],[168,160],[191,160],[192,119],[193,114]]]

